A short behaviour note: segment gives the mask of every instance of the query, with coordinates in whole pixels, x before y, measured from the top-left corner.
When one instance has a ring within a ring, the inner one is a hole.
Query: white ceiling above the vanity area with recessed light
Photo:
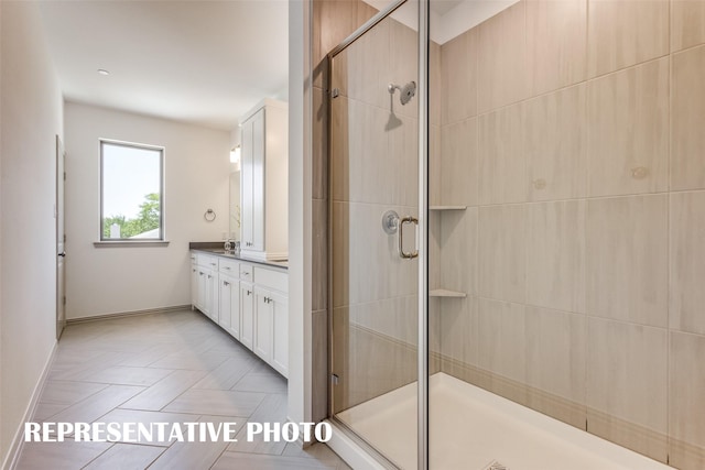
[[[40,6],[68,101],[231,130],[262,98],[286,99],[286,0]]]

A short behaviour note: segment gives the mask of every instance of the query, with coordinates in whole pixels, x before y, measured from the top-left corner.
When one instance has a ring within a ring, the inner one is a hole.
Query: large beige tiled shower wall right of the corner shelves
[[[522,0],[443,44],[442,370],[705,466],[705,1]]]

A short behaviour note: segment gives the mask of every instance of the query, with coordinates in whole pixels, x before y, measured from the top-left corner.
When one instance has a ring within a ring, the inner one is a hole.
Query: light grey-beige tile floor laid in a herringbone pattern
[[[28,442],[18,469],[349,469],[327,446],[248,442],[286,420],[286,381],[198,311],[72,325],[34,422],[236,422],[237,442]]]

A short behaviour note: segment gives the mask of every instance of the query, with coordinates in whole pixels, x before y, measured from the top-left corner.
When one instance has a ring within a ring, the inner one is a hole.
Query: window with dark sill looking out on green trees
[[[100,240],[164,240],[164,149],[100,141]]]

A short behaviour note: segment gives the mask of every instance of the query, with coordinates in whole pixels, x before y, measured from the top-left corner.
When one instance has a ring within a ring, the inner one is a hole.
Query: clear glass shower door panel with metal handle
[[[417,442],[415,9],[335,51],[329,81],[332,415],[404,469]]]

